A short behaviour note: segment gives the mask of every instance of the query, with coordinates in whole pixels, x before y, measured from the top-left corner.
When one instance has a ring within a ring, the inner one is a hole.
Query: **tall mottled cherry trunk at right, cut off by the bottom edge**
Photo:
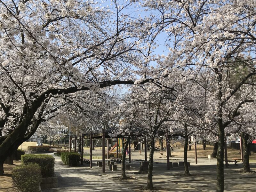
[[[217,192],[224,191],[224,146],[225,146],[225,133],[222,124],[222,118],[218,119],[218,153],[217,153]]]

